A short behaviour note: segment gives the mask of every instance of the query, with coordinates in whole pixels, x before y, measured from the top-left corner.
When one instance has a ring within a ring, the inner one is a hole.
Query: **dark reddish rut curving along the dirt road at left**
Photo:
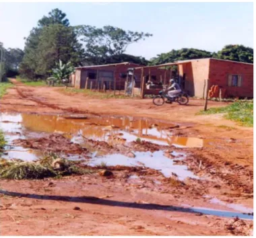
[[[71,112],[71,113],[77,113],[77,114],[92,114],[94,116],[100,116],[99,114],[96,114],[94,112],[89,112],[88,110],[79,110],[77,108],[61,108],[57,106],[56,104],[51,104],[49,102],[43,102],[42,99],[38,99],[36,97],[30,97],[24,93],[24,91],[20,90],[18,87],[15,88],[20,97],[30,100],[32,102],[36,102],[36,104],[39,104],[41,106],[46,106],[47,108],[52,108],[55,110],[61,110],[63,112]]]

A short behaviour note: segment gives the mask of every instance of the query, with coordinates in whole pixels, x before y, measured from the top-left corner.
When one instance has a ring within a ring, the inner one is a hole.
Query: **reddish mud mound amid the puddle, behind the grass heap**
[[[14,145],[28,147],[32,149],[40,149],[42,151],[65,152],[71,154],[87,153],[86,148],[82,148],[79,144],[69,141],[61,134],[50,134],[41,138],[17,139],[13,141]]]

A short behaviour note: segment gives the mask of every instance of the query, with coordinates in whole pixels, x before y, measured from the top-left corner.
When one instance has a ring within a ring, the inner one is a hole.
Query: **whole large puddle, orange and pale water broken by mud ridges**
[[[158,145],[175,145],[177,147],[203,147],[203,139],[172,136],[174,124],[160,122],[158,120],[123,117],[93,117],[73,118],[72,116],[54,116],[37,114],[0,114],[0,129],[5,133],[9,145],[17,138],[26,138],[26,132],[33,132],[33,136],[42,133],[59,133],[71,139],[73,143],[79,143],[91,152],[95,152],[90,160],[90,165],[98,165],[101,162],[107,165],[145,166],[158,169],[164,176],[170,177],[176,173],[180,180],[186,177],[198,178],[185,165],[173,165],[173,161],[164,157],[163,151],[135,152],[135,158],[125,155],[106,155],[102,151],[88,148],[84,137],[94,141],[106,141],[110,145],[116,143],[129,143],[140,138]],[[23,159],[32,161],[42,156],[42,151],[23,147],[5,148],[7,155],[4,158]],[[183,159],[181,153],[173,153],[177,159]],[[80,159],[79,156],[71,159]],[[176,159],[176,158],[175,158]]]

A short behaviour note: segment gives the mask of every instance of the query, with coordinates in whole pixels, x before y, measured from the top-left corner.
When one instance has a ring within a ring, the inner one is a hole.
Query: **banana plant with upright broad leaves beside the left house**
[[[75,68],[71,65],[70,61],[67,64],[63,64],[62,61],[59,60],[57,67],[52,69],[52,75],[47,78],[47,81],[49,81],[51,85],[55,85],[55,83],[68,83],[69,76],[74,71]]]

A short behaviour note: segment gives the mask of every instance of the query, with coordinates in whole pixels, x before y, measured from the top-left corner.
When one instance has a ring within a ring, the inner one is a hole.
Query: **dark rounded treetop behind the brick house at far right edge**
[[[245,47],[241,44],[228,44],[218,51],[214,58],[253,63],[253,48]]]

